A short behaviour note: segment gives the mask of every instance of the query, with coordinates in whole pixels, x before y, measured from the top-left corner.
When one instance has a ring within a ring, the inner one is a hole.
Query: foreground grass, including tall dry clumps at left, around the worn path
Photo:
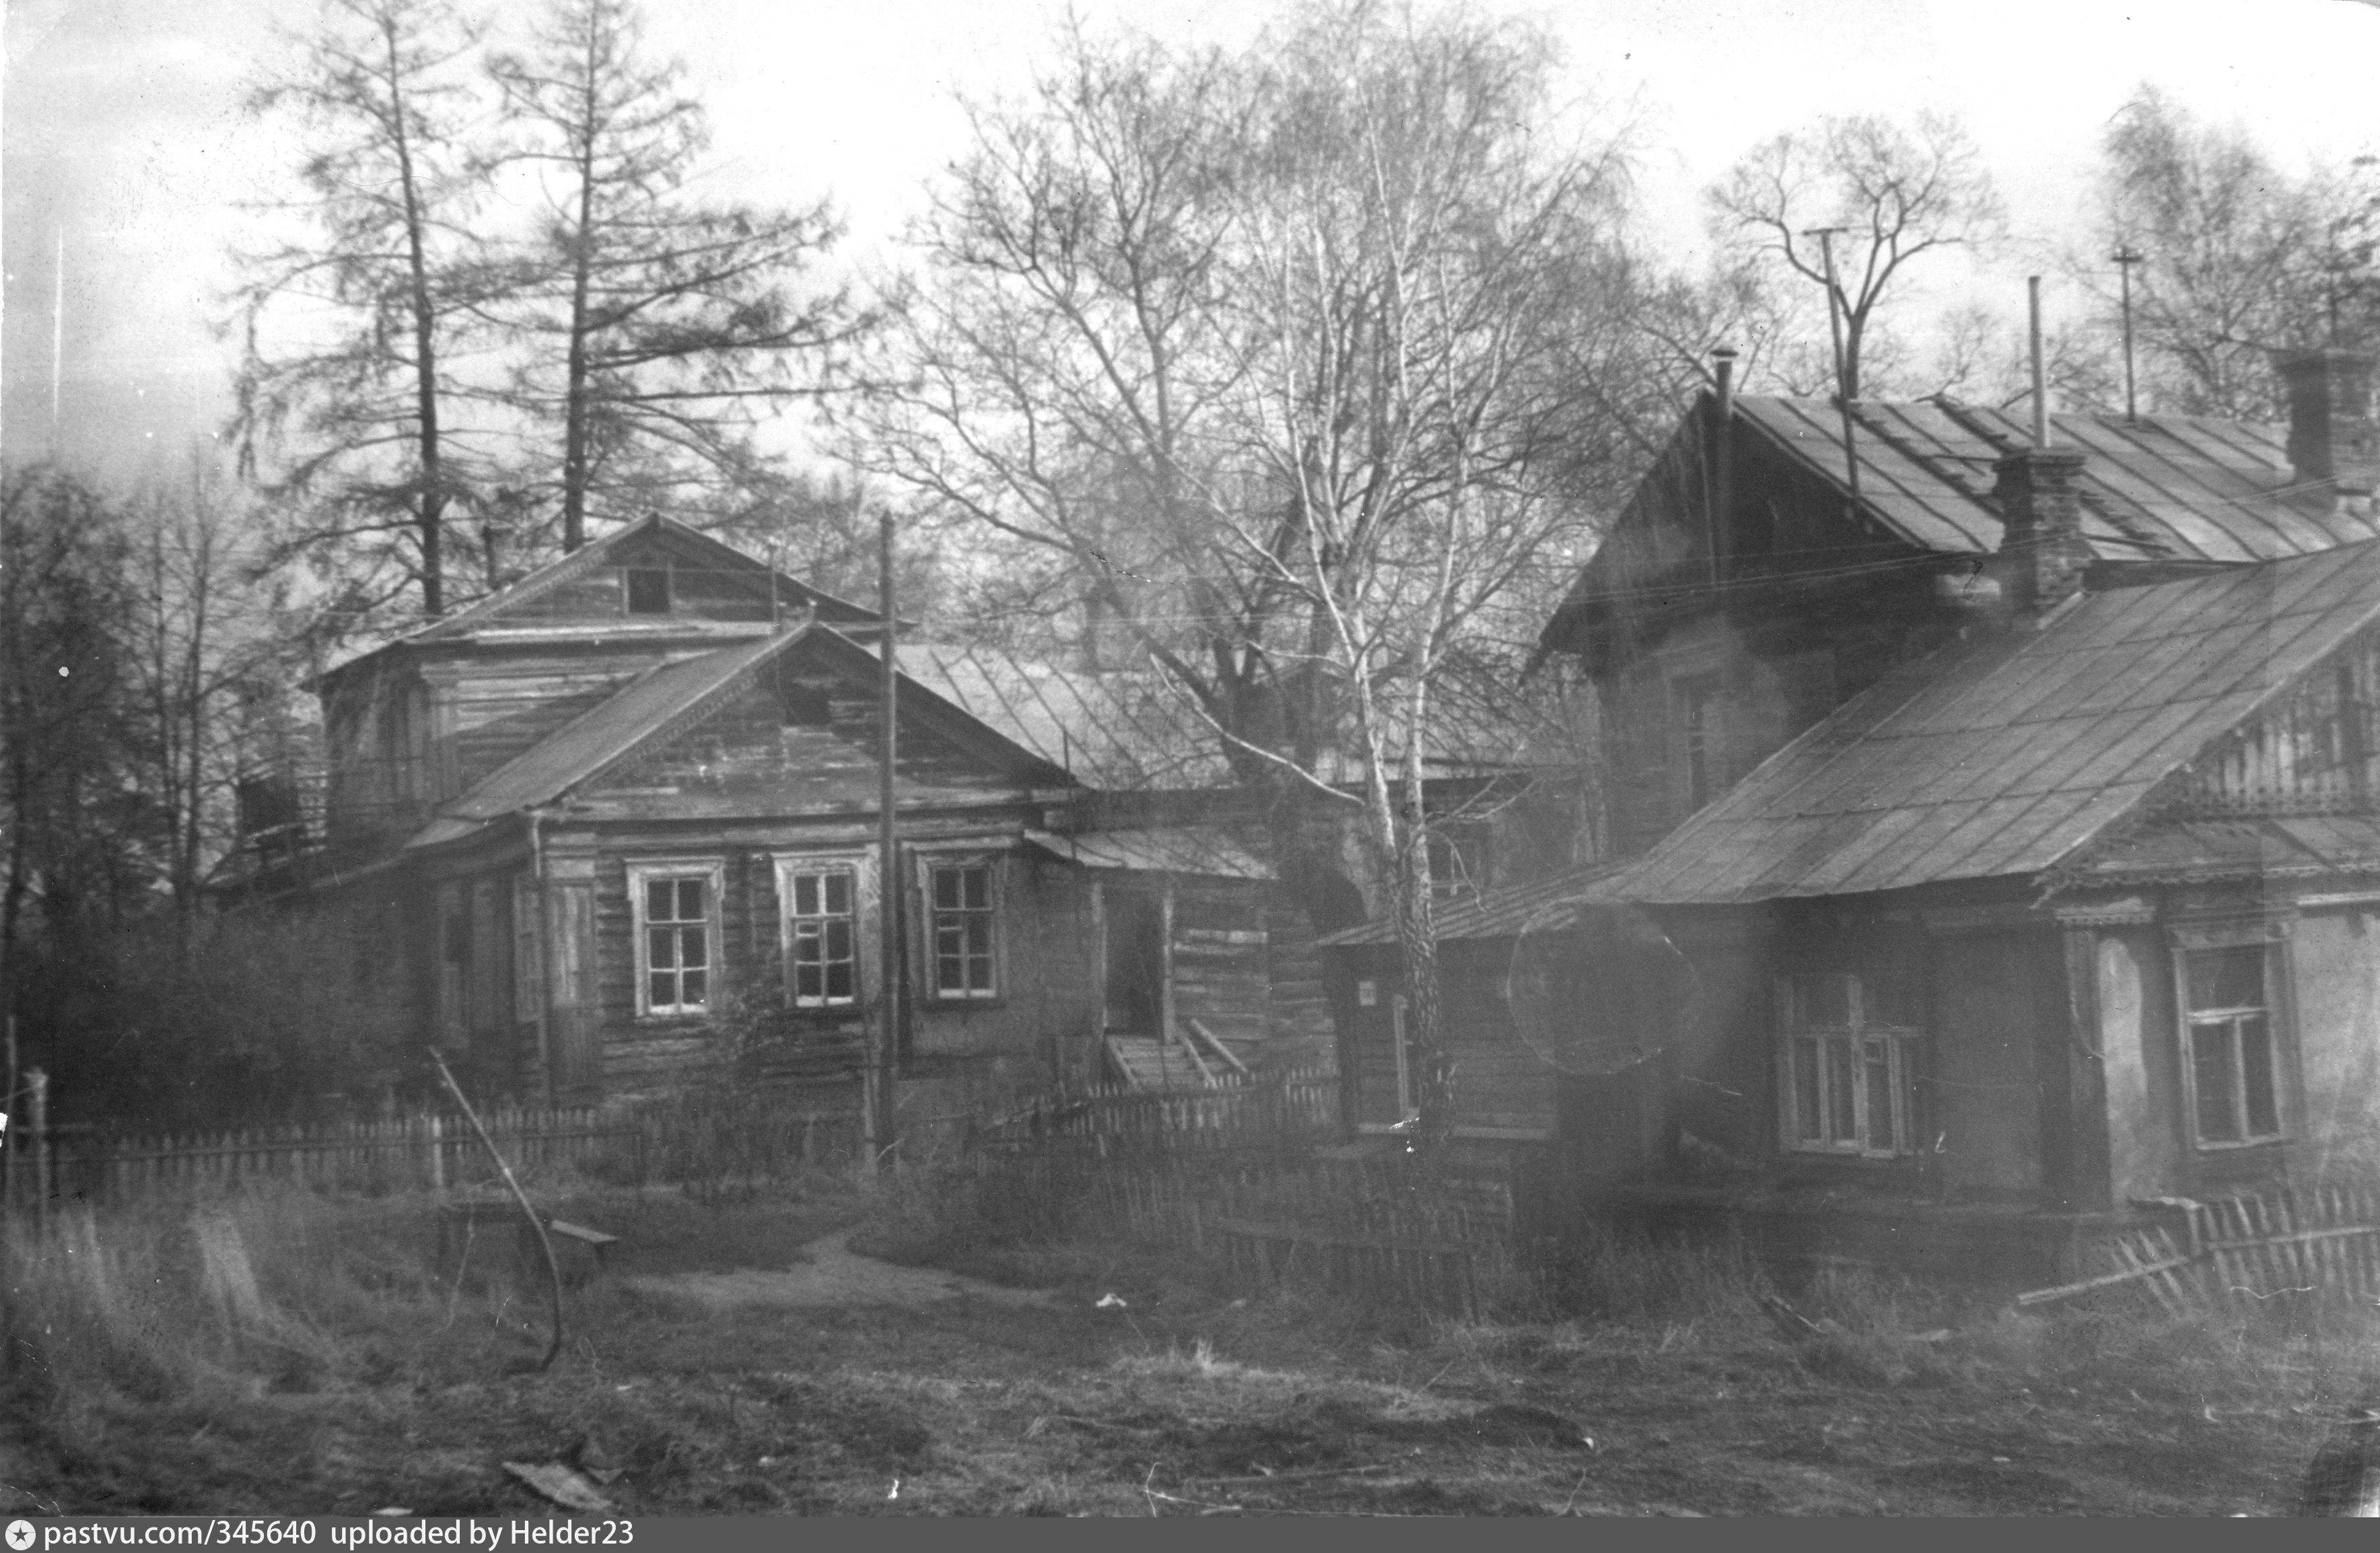
[[[2375,1353],[2344,1324],[2013,1315],[1840,1270],[1792,1291],[1821,1336],[1787,1341],[1737,1248],[1628,1236],[1459,1322],[1238,1291],[1083,1224],[1035,1239],[919,1181],[547,1200],[643,1274],[571,1291],[547,1374],[521,1370],[545,1317],[509,1241],[440,1262],[421,1198],[19,1227],[0,1508],[521,1515],[500,1462],[593,1443],[645,1515],[2271,1513]],[[912,1255],[1009,1258],[1057,1301],[666,1293],[854,1222]]]

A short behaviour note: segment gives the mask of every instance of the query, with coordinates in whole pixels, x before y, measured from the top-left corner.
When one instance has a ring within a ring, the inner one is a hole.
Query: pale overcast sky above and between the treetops
[[[831,193],[857,255],[897,260],[921,183],[964,150],[954,91],[1021,88],[1064,0],[650,0],[652,40],[709,102],[719,181]],[[1076,0],[1169,38],[1230,43],[1254,0]],[[1823,112],[1959,112],[2021,236],[2078,231],[2099,133],[2140,81],[2247,124],[2285,164],[2380,150],[2380,7],[2354,0],[1568,0],[1547,19],[1580,100],[1633,105],[1654,229],[1697,241],[1695,195],[1754,141]],[[290,143],[240,112],[314,0],[7,0],[0,124],[0,453],[131,474],[226,407],[224,250]],[[64,250],[60,272],[57,255]],[[64,305],[57,279],[64,274]],[[1980,298],[2021,312],[2021,281]],[[2009,288],[2011,295],[1997,295]],[[2054,310],[2054,303],[2052,303]],[[57,341],[57,350],[52,350]],[[57,393],[52,398],[52,381]],[[55,434],[52,434],[55,424]]]

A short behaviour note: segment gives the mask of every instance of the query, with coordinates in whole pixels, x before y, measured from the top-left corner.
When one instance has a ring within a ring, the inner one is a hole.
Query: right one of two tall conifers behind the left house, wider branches
[[[600,498],[733,486],[764,410],[814,393],[859,319],[795,281],[840,233],[823,202],[759,210],[690,193],[709,143],[683,69],[645,57],[628,0],[557,0],[528,52],[497,55],[512,167],[543,198],[497,267],[490,319],[526,345],[509,403],[557,434],[526,488],[557,498],[562,548]],[[559,455],[559,457],[555,457]]]

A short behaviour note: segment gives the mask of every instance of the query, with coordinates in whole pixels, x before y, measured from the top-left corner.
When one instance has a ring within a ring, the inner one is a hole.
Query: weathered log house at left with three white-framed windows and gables
[[[486,1093],[671,1089],[726,1055],[850,1079],[904,986],[916,1086],[1202,1081],[1323,1027],[1223,762],[1130,674],[902,641],[666,519],[319,681],[357,998]],[[900,955],[883,965],[881,915]]]

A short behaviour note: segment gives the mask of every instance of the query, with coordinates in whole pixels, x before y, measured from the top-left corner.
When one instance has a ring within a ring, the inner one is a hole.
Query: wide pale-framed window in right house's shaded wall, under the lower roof
[[[1923,1029],[1906,988],[1842,972],[1778,984],[1785,1148],[1894,1158],[1918,1150]]]

